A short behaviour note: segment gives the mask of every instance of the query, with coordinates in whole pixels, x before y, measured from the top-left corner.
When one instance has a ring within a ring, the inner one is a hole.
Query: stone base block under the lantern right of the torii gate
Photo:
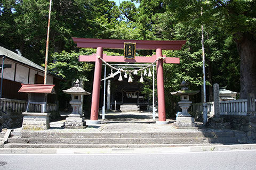
[[[193,117],[177,117],[176,122],[173,124],[174,128],[179,129],[190,129],[195,128],[196,124],[194,123]]]

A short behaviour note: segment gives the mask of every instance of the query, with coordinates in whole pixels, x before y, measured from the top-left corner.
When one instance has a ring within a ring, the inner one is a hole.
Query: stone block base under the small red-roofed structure
[[[22,129],[46,130],[50,128],[49,116],[51,113],[23,112]]]

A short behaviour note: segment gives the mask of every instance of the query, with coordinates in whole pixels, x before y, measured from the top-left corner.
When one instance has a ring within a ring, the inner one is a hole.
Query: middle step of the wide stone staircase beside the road
[[[220,138],[10,138],[10,143],[64,144],[179,144],[179,143],[235,143],[235,137]]]

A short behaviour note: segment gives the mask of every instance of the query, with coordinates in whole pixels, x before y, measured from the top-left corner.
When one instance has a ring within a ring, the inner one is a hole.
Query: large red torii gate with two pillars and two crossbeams
[[[164,75],[163,63],[179,64],[180,59],[175,57],[165,57],[162,55],[162,50],[180,50],[182,45],[186,44],[186,40],[178,41],[157,41],[157,40],[121,40],[121,39],[94,39],[94,38],[75,38],[73,41],[77,47],[81,48],[97,48],[97,53],[91,56],[79,56],[79,62],[95,62],[93,90],[92,90],[92,105],[91,105],[91,124],[99,124],[99,98],[100,98],[100,80],[101,80],[101,57],[106,62],[118,63],[153,63],[157,58],[157,97],[158,97],[158,123],[166,122],[165,100],[164,100]],[[156,55],[152,57],[135,56],[134,59],[126,59],[124,56],[107,56],[103,54],[103,48],[123,49],[124,43],[136,43],[136,49],[156,49]],[[165,57],[165,58],[163,58]]]

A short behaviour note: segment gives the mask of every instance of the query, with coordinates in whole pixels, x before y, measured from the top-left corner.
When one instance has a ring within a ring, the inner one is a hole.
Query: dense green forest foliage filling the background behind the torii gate
[[[136,7],[134,2],[140,6]],[[44,63],[48,10],[47,0],[0,1],[1,43],[18,48],[23,56],[37,64]],[[94,63],[78,62],[78,56],[91,55],[95,49],[78,50],[71,37],[187,40],[182,50],[163,52],[167,57],[180,58],[180,64],[164,64],[166,111],[174,116],[179,98],[170,92],[179,90],[182,80],[190,83],[191,90],[201,89],[201,25],[205,31],[207,94],[215,82],[220,87],[239,91],[241,54],[237,53],[236,45],[245,33],[254,37],[255,42],[255,16],[255,1],[132,0],[117,6],[108,0],[54,0],[49,70],[67,80],[63,89],[80,79],[91,91]],[[105,49],[104,52],[122,55],[123,50]],[[155,52],[137,50],[137,53],[151,56]],[[149,78],[143,83],[144,94],[151,94],[151,82]],[[200,99],[199,95],[194,98]]]

